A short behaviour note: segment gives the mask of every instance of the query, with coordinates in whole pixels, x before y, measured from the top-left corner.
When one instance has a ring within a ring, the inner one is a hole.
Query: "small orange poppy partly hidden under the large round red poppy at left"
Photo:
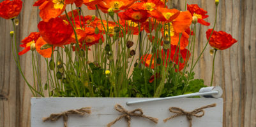
[[[41,46],[47,44],[45,40],[43,40],[42,37],[39,37],[36,41],[36,51],[38,53],[45,57],[45,58],[50,58],[52,56],[52,48],[47,48],[45,50],[41,50]],[[55,47],[54,47],[55,48]]]

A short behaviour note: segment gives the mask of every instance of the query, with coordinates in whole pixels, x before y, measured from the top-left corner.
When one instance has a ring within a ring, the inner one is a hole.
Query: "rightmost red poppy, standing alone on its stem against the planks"
[[[206,37],[209,39],[211,32],[213,29],[208,29],[206,32]],[[209,40],[209,44],[216,48],[217,50],[225,50],[236,43],[237,40],[234,39],[230,34],[227,34],[223,31],[213,31],[211,38]]]

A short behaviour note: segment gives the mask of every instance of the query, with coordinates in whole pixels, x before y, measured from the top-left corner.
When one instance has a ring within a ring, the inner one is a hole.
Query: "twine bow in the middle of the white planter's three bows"
[[[112,121],[111,123],[107,124],[107,127],[112,126],[112,125],[115,124],[117,121],[119,121],[122,117],[125,117],[125,119],[126,119],[126,121],[127,121],[127,123],[128,123],[128,127],[130,127],[130,126],[131,126],[131,116],[145,117],[145,118],[147,118],[147,119],[153,121],[154,123],[158,123],[158,119],[157,119],[157,118],[149,117],[149,116],[144,116],[142,109],[135,109],[135,110],[132,110],[131,112],[128,112],[128,110],[124,109],[124,107],[122,107],[122,106],[119,105],[119,104],[116,104],[116,105],[115,105],[115,109],[116,109],[118,112],[122,112],[123,115],[120,116],[120,117],[117,117],[117,119],[115,119],[115,120]]]

